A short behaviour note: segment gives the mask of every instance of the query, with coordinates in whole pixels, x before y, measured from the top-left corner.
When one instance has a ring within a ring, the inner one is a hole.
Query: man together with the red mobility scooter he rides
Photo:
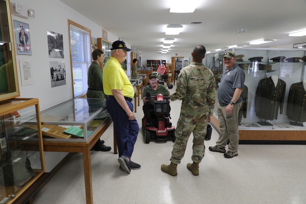
[[[175,139],[175,127],[172,126],[168,118],[171,110],[169,104],[170,93],[164,85],[158,83],[155,74],[149,75],[149,83],[150,85],[146,86],[143,91],[144,106],[142,109],[144,118],[142,119],[142,129],[145,142],[150,143],[151,137],[157,141],[166,141],[168,136]],[[170,89],[172,87],[172,85],[168,86]]]

